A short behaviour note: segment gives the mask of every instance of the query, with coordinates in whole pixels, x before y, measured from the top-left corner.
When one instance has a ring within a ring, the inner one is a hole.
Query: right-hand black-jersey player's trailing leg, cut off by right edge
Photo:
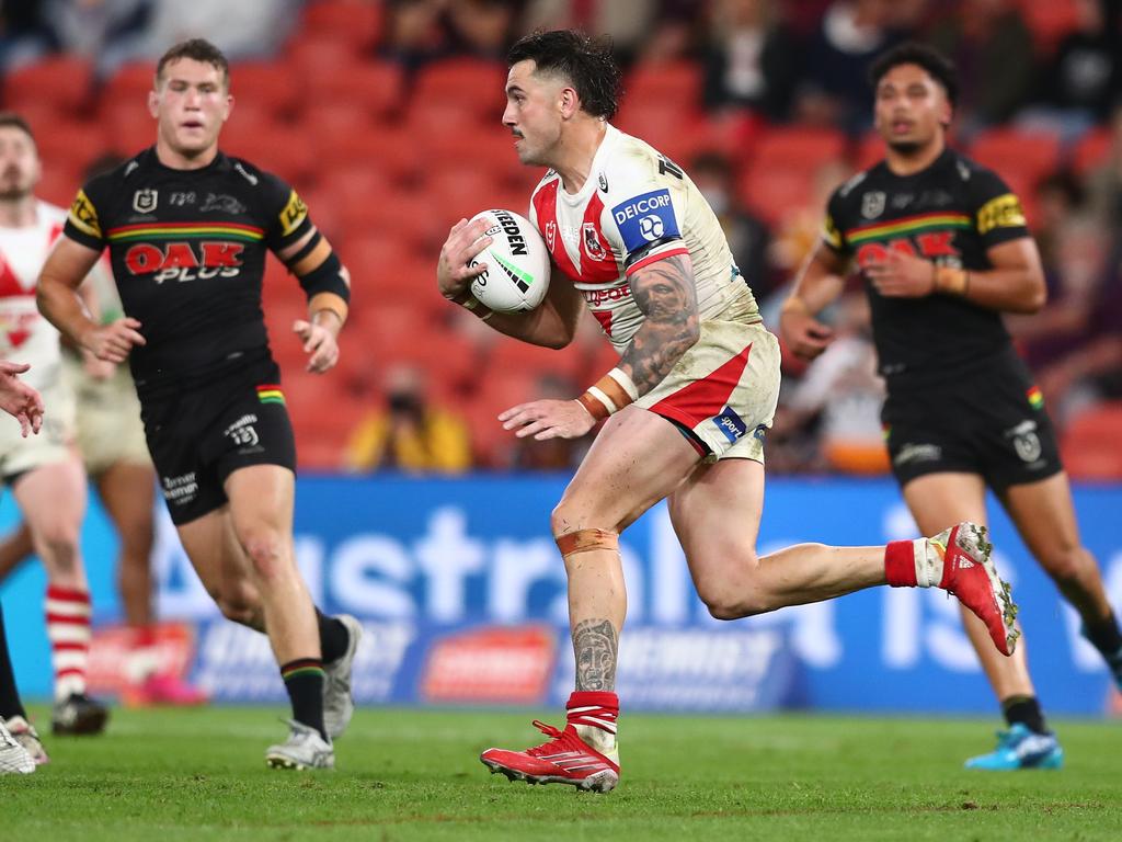
[[[1084,634],[1122,689],[1122,634],[1098,565],[1079,540],[1067,475],[1010,486],[1002,502],[1033,557],[1079,612]]]

